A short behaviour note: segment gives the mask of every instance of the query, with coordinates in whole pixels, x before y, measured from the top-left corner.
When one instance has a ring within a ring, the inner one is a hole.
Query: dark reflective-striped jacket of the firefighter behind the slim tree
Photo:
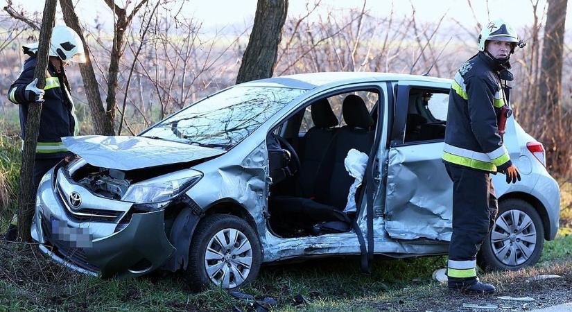
[[[34,80],[36,67],[35,55],[31,54],[24,62],[18,79],[8,89],[8,99],[19,104],[21,136],[26,136],[26,119],[28,118],[28,102],[24,97],[26,85]],[[51,63],[46,73],[44,87],[44,103],[40,116],[40,132],[37,137],[36,158],[60,158],[69,155],[62,144],[62,137],[78,135],[78,122],[74,114],[73,101],[69,93],[69,85],[64,71],[55,71]]]

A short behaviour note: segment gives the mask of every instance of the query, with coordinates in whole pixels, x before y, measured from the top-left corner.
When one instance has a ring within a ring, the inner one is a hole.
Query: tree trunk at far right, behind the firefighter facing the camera
[[[555,112],[560,104],[562,80],[562,48],[568,0],[548,0],[548,15],[544,26],[544,49],[540,71],[540,105]],[[546,112],[546,111],[545,111]]]

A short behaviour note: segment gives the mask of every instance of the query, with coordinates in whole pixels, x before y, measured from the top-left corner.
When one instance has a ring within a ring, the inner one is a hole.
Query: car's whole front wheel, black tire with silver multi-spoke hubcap
[[[236,289],[257,277],[261,260],[259,239],[245,220],[214,214],[200,221],[193,234],[184,277],[193,291],[210,286]]]

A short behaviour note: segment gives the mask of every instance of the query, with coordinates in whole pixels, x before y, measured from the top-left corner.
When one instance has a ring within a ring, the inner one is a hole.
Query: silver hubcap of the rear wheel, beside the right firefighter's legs
[[[528,214],[516,209],[505,211],[494,222],[492,251],[505,265],[519,266],[535,251],[536,236],[535,224]]]

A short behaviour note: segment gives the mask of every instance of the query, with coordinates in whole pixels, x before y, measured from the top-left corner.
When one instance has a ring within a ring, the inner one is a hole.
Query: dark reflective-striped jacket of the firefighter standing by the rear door
[[[497,115],[508,105],[501,69],[479,52],[456,73],[449,93],[444,162],[492,173],[512,164],[497,127]]]

